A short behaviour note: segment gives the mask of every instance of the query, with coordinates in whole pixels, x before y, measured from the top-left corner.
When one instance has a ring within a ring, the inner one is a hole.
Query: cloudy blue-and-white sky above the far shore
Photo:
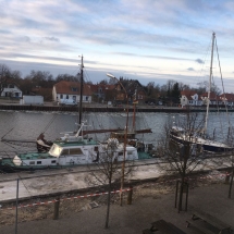
[[[112,73],[144,85],[194,86],[209,71],[215,32],[226,91],[234,91],[233,0],[0,0],[0,63],[23,75],[74,75],[83,54],[94,83]]]

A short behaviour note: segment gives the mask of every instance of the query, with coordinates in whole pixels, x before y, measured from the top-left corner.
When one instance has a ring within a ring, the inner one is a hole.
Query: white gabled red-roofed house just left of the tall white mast
[[[181,106],[201,106],[202,100],[199,95],[193,90],[183,90],[181,91]]]

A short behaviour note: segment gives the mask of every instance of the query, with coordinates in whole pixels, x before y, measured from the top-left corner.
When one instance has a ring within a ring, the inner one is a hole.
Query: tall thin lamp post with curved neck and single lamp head
[[[127,140],[127,128],[128,128],[128,96],[126,89],[124,88],[123,84],[114,75],[107,73],[107,76],[110,78],[115,79],[120,86],[123,88],[126,95],[126,127],[124,134],[124,149],[123,149],[123,163],[122,163],[122,175],[121,175],[121,189],[120,189],[120,206],[123,205],[123,186],[124,186],[124,171],[125,171],[125,159],[126,159],[126,140]]]

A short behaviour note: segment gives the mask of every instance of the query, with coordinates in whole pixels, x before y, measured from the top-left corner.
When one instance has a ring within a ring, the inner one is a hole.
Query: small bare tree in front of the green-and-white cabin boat
[[[123,175],[121,163],[122,159],[120,159],[119,157],[121,153],[123,153],[123,147],[120,147],[118,139],[110,138],[108,140],[108,144],[102,146],[101,152],[98,151],[97,156],[95,156],[94,158],[94,162],[96,162],[97,170],[94,171],[90,169],[90,176],[87,177],[89,184],[96,186],[108,185],[107,215],[104,229],[109,227],[111,192],[114,185],[120,185],[120,181]],[[125,162],[126,168],[124,170],[124,176],[131,175],[131,173],[133,172],[133,160]]]

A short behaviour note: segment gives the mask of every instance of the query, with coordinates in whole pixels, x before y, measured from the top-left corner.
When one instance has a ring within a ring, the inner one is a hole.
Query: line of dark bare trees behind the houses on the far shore
[[[128,78],[122,78],[122,81],[128,81]],[[23,93],[23,95],[42,95],[45,100],[52,100],[51,89],[54,84],[60,81],[79,82],[79,74],[59,74],[56,77],[47,71],[32,70],[26,76],[22,76],[22,73],[17,70],[11,70],[5,64],[0,64],[0,96],[5,87],[5,84],[13,82]],[[102,79],[99,82],[101,85],[110,85],[113,81]],[[87,84],[93,84],[90,81]],[[164,85],[159,85],[156,82],[149,82],[147,85],[140,85],[146,94],[146,102],[151,104],[180,103],[180,97],[182,90],[194,90],[198,95],[204,94],[207,90],[208,82],[198,83],[197,87],[190,87],[187,84],[169,79]],[[212,85],[211,91],[220,94],[220,89]]]

